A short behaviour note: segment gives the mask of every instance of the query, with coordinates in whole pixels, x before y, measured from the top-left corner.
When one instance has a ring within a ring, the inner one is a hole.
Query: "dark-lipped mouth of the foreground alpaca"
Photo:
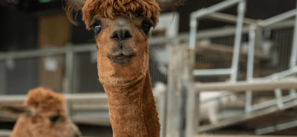
[[[135,57],[136,54],[130,54],[130,55],[125,55],[123,53],[119,55],[108,55],[109,60],[112,61],[112,63],[115,63],[117,66],[127,66],[133,61],[133,57]]]

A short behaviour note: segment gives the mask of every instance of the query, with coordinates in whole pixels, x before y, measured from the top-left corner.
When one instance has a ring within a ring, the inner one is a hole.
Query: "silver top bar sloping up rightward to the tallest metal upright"
[[[218,4],[215,4],[213,6],[207,7],[207,8],[202,8],[199,9],[197,11],[194,11],[191,13],[190,18],[201,18],[205,15],[208,15],[210,13],[213,13],[215,11],[221,11],[224,9],[227,9],[228,7],[231,7],[235,4],[237,4],[238,2],[240,2],[241,0],[226,0],[226,1],[222,1]]]

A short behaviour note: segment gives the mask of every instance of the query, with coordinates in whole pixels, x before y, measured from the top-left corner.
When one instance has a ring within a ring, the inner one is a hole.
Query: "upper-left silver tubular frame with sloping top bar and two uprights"
[[[242,25],[243,25],[243,18],[245,15],[245,7],[246,1],[245,0],[227,0],[223,1],[219,4],[213,5],[208,8],[203,8],[201,10],[195,11],[190,14],[190,40],[189,40],[189,47],[190,49],[195,49],[196,46],[196,31],[198,25],[198,19],[207,16],[215,11],[224,10],[228,7],[231,7],[235,4],[238,4],[238,18],[236,23],[236,32],[235,32],[235,42],[234,42],[234,50],[233,50],[233,59],[231,68],[226,69],[207,69],[207,70],[194,70],[192,74],[194,76],[213,74],[213,75],[226,75],[230,74],[231,81],[236,81],[237,78],[237,71],[238,71],[238,59],[239,59],[239,50],[241,44],[241,35],[242,35]]]

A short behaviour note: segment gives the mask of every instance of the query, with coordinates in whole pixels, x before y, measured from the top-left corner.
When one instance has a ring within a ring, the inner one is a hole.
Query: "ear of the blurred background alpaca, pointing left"
[[[1,110],[8,112],[11,117],[17,118],[20,114],[33,116],[35,109],[27,105],[2,105]]]

